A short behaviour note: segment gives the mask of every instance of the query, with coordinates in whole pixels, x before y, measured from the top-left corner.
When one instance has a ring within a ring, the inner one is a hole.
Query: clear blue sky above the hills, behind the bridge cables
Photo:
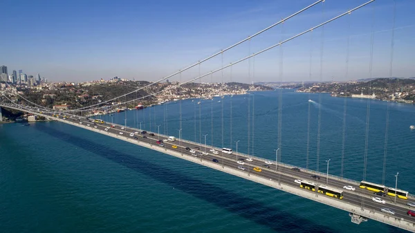
[[[151,1],[32,1],[3,0],[1,3],[0,65],[40,73],[50,81],[86,81],[119,76],[136,80],[158,80],[220,51],[315,0],[151,0]],[[224,53],[201,65],[201,73],[229,64],[249,53],[278,43],[322,20],[364,3],[365,0],[326,0],[286,21],[250,44]],[[284,81],[356,80],[370,76],[371,32],[374,32],[373,77],[388,77],[394,2],[377,0],[351,15],[314,30],[249,62],[232,67],[232,80],[278,81],[280,58]],[[394,69],[392,76],[415,76],[415,1],[396,0]],[[372,26],[374,19],[374,26]],[[349,29],[350,26],[350,29]],[[347,38],[349,75],[346,77]],[[248,73],[250,71],[250,73]],[[182,77],[199,73],[196,67]],[[223,81],[230,81],[230,70]],[[211,78],[204,78],[203,82]],[[222,73],[212,77],[221,81]]]

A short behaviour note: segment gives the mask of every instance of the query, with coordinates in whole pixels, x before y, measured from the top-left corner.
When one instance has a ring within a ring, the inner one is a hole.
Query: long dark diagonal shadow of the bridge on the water
[[[35,124],[35,127],[39,131],[48,133],[54,138],[64,140],[76,147],[91,151],[103,158],[128,167],[133,171],[145,174],[161,183],[171,185],[175,189],[179,189],[196,198],[208,201],[234,214],[238,214],[250,221],[270,227],[277,232],[336,232],[326,225],[317,224],[306,218],[295,216],[290,212],[284,212],[276,207],[268,207],[265,203],[261,203],[255,199],[235,194],[234,192],[216,187],[210,183],[204,183],[201,180],[185,176],[166,167],[160,167],[154,163],[116,151],[111,149],[111,147],[95,143],[91,140],[85,140],[70,133],[53,129],[46,124]],[[315,211],[315,209],[305,210]],[[344,214],[347,213],[344,212]]]

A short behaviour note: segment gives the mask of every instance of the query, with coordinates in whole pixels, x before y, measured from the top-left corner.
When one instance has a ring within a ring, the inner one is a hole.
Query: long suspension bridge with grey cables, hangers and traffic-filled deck
[[[393,187],[385,187],[385,185],[378,185],[374,183],[366,182],[366,167],[367,167],[367,138],[368,138],[368,131],[369,131],[369,113],[370,113],[370,99],[367,100],[367,129],[366,129],[366,142],[365,142],[365,169],[364,169],[364,179],[360,182],[357,180],[350,180],[344,178],[342,176],[333,176],[329,174],[329,161],[327,162],[327,172],[322,173],[319,169],[318,161],[320,160],[320,129],[321,129],[321,108],[319,109],[319,118],[318,118],[318,134],[317,134],[317,169],[316,171],[312,169],[308,169],[308,160],[309,160],[309,153],[307,150],[306,154],[306,167],[295,167],[293,165],[288,165],[281,162],[281,153],[282,153],[282,91],[279,92],[279,108],[277,111],[277,150],[275,151],[276,158],[275,160],[266,160],[264,158],[254,156],[254,140],[255,137],[255,95],[252,98],[248,98],[248,124],[247,124],[247,137],[248,137],[248,151],[247,153],[241,153],[240,151],[232,151],[232,148],[225,148],[224,147],[224,129],[223,129],[223,102],[221,103],[221,147],[216,145],[206,145],[206,135],[203,135],[205,138],[205,143],[201,143],[202,136],[199,136],[199,142],[196,142],[196,121],[194,121],[194,131],[195,131],[195,139],[194,141],[184,140],[181,135],[181,131],[183,129],[183,119],[182,119],[182,102],[181,100],[178,101],[180,112],[179,120],[178,120],[178,133],[179,137],[174,138],[169,136],[167,133],[163,134],[153,131],[144,131],[140,128],[136,127],[129,127],[127,125],[127,120],[124,125],[121,124],[114,124],[113,122],[106,122],[104,120],[98,120],[93,118],[86,117],[86,113],[91,113],[91,111],[99,110],[107,108],[107,104],[109,102],[118,102],[113,107],[116,106],[125,106],[129,103],[138,103],[140,100],[143,100],[147,97],[155,96],[163,91],[169,90],[169,88],[156,91],[154,93],[149,93],[145,96],[138,97],[138,91],[145,89],[149,86],[154,84],[158,84],[159,82],[163,82],[168,78],[179,76],[180,82],[178,86],[183,86],[184,84],[188,84],[194,82],[196,80],[201,80],[203,77],[211,77],[214,73],[221,72],[221,77],[223,81],[223,70],[230,68],[231,75],[232,75],[232,66],[239,64],[243,61],[248,61],[248,76],[250,77],[250,81],[255,80],[255,56],[265,53],[268,50],[273,48],[279,47],[280,48],[280,64],[279,64],[279,79],[282,81],[282,58],[283,58],[283,51],[282,45],[296,39],[297,37],[302,37],[303,35],[313,32],[313,30],[317,28],[322,28],[326,24],[330,24],[331,22],[340,19],[341,17],[351,15],[352,12],[359,10],[360,8],[364,8],[372,1],[367,1],[360,6],[356,6],[351,10],[346,10],[342,14],[333,17],[327,21],[318,24],[317,26],[313,26],[308,30],[304,30],[303,32],[299,32],[297,35],[293,37],[289,37],[288,39],[282,39],[279,43],[274,44],[273,46],[269,46],[263,50],[259,50],[257,53],[251,53],[249,51],[249,55],[243,57],[237,61],[231,62],[228,65],[223,64],[223,53],[226,53],[228,50],[239,46],[239,44],[243,43],[250,43],[251,39],[260,35],[271,28],[283,24],[285,21],[299,15],[300,13],[308,10],[309,8],[313,8],[314,6],[324,3],[324,0],[316,1],[315,3],[295,12],[293,15],[290,15],[277,23],[269,26],[268,28],[264,28],[264,30],[260,30],[259,32],[253,34],[252,36],[243,39],[242,41],[233,44],[232,46],[228,46],[221,50],[219,53],[215,53],[214,55],[207,57],[205,59],[201,59],[200,61],[187,66],[186,68],[181,69],[173,73],[172,75],[168,75],[163,77],[162,79],[148,84],[147,86],[137,88],[135,91],[131,91],[129,93],[125,93],[119,97],[113,98],[111,100],[105,100],[98,104],[93,104],[91,106],[84,106],[80,109],[71,109],[68,111],[55,111],[53,109],[47,109],[44,106],[41,106],[37,103],[30,102],[24,96],[19,94],[19,102],[14,102],[11,100],[10,93],[7,91],[2,93],[1,101],[0,101],[0,118],[1,118],[1,108],[7,109],[15,109],[17,111],[22,111],[26,113],[31,113],[33,115],[39,115],[44,118],[56,120],[59,122],[63,122],[65,124],[70,124],[75,127],[80,127],[82,129],[86,129],[89,131],[93,131],[95,133],[101,133],[104,136],[109,136],[112,138],[116,138],[118,140],[124,140],[126,142],[138,145],[140,147],[147,147],[149,149],[160,151],[161,153],[165,153],[170,156],[175,156],[176,158],[181,158],[183,160],[188,160],[190,162],[194,162],[196,164],[210,167],[212,169],[216,169],[218,171],[222,171],[228,174],[232,174],[234,176],[239,176],[240,178],[244,178],[246,180],[251,180],[256,183],[260,183],[262,185],[267,185],[269,187],[273,187],[275,189],[279,189],[284,192],[288,192],[290,194],[295,194],[297,196],[302,196],[304,198],[308,198],[312,201],[316,201],[318,203],[323,203],[325,205],[329,205],[331,207],[335,207],[338,209],[342,209],[346,212],[349,212],[349,216],[351,216],[351,221],[353,223],[360,224],[364,221],[367,221],[369,218],[379,221],[382,223],[386,223],[389,225],[393,225],[395,227],[402,228],[404,230],[408,230],[411,232],[415,232],[415,218],[408,213],[408,209],[415,209],[412,206],[408,206],[407,203],[412,203],[415,201],[414,196],[408,194],[400,189],[396,189]],[[324,30],[322,31],[322,33]],[[393,40],[392,37],[392,46],[391,50],[393,51]],[[348,45],[349,46],[349,41]],[[213,57],[221,56],[221,67],[216,68],[214,71],[210,71],[205,74],[201,74],[200,66],[203,62],[206,62]],[[322,55],[321,55],[322,56]],[[349,59],[349,54],[347,54],[347,61]],[[322,57],[320,57],[322,59]],[[373,59],[373,32],[372,32],[372,41],[371,41],[371,62]],[[391,61],[393,60],[393,53],[391,53]],[[369,64],[370,70],[372,64]],[[392,62],[391,62],[392,64]],[[182,81],[182,73],[189,70],[190,68],[199,66],[199,75],[194,77],[190,80]],[[310,59],[310,69],[312,66],[312,62]],[[320,69],[322,69],[322,62],[320,64]],[[391,65],[392,66],[392,65]],[[391,73],[391,68],[390,68]],[[347,76],[347,75],[346,75]],[[391,77],[391,75],[390,75]],[[320,72],[320,80],[322,78],[322,73]],[[127,100],[127,96],[136,96],[133,98],[129,98]],[[321,102],[321,95],[319,97],[319,102]],[[213,103],[213,102],[212,102]],[[308,103],[308,138],[307,138],[307,149],[310,147],[310,106],[311,104]],[[344,99],[344,118],[347,113],[347,98]],[[194,109],[194,115],[196,118],[196,106]],[[199,114],[201,109],[199,108]],[[79,114],[79,115],[78,115]],[[232,122],[232,107],[231,107],[231,122]],[[168,113],[165,113],[163,116],[163,126],[167,124]],[[216,127],[213,125],[213,105],[211,106],[211,141],[213,142],[213,132]],[[389,105],[387,109],[387,116],[389,116]],[[127,119],[127,116],[125,117]],[[150,117],[151,118],[151,117]],[[387,121],[389,118],[387,118]],[[155,122],[154,122],[155,123]],[[184,122],[184,124],[186,124]],[[388,122],[387,122],[388,127]],[[160,125],[158,125],[160,127]],[[201,127],[201,124],[199,124]],[[232,127],[232,123],[230,124]],[[232,130],[232,128],[231,128]],[[342,171],[343,174],[343,160],[344,160],[344,140],[345,140],[345,120],[343,124],[343,138],[342,138]],[[232,137],[232,134],[231,134]],[[232,142],[232,138],[230,138]],[[239,142],[239,141],[238,141]],[[385,153],[384,153],[384,167],[383,167],[383,180],[385,181],[385,165],[386,165],[386,156],[387,156],[387,129],[385,134]],[[398,176],[398,174],[396,175]],[[374,192],[381,192],[385,194],[382,198],[375,198]],[[414,212],[415,213],[415,212]]]

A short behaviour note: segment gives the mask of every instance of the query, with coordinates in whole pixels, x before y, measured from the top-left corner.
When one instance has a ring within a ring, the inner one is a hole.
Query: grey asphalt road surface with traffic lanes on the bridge
[[[6,104],[4,104],[6,105]],[[14,104],[10,104],[14,105]],[[14,108],[19,108],[19,106],[13,106]],[[21,107],[20,107],[21,109]],[[28,109],[30,111],[36,111],[34,108]],[[52,116],[52,113],[43,113],[44,115],[50,115]],[[294,180],[300,179],[300,180],[308,180],[310,182],[315,183],[316,187],[319,185],[326,185],[326,176],[320,176],[320,180],[316,180],[311,178],[313,173],[310,171],[306,171],[305,169],[301,169],[299,171],[293,169],[294,167],[286,167],[282,165],[276,165],[275,161],[272,162],[271,165],[265,164],[265,160],[263,158],[257,158],[257,157],[248,157],[247,155],[239,153],[238,156],[235,154],[228,154],[228,153],[222,153],[219,151],[218,148],[214,147],[214,149],[218,152],[218,154],[212,153],[210,149],[212,147],[207,146],[204,147],[203,145],[199,145],[199,143],[192,143],[187,140],[183,141],[168,141],[168,136],[165,135],[158,135],[157,133],[154,133],[154,136],[150,136],[150,132],[146,133],[145,136],[147,138],[143,138],[142,134],[140,133],[140,130],[133,129],[133,128],[124,128],[119,124],[114,124],[116,127],[111,127],[113,124],[109,122],[98,123],[98,122],[91,122],[94,119],[93,118],[81,118],[79,116],[71,115],[69,117],[68,114],[66,114],[67,118],[63,118],[63,115],[59,115],[59,118],[62,120],[68,120],[70,122],[76,123],[76,124],[83,124],[86,127],[92,127],[95,129],[99,129],[102,131],[107,131],[109,133],[115,133],[118,136],[126,137],[126,138],[136,138],[136,140],[140,142],[147,142],[151,145],[161,147],[156,142],[158,140],[162,140],[162,143],[165,147],[165,149],[170,149],[174,151],[178,151],[179,153],[182,153],[183,156],[193,156],[196,158],[199,158],[200,160],[204,161],[210,161],[216,159],[218,163],[224,167],[230,167],[232,169],[240,169],[242,171],[245,171],[248,174],[255,174],[257,176],[261,176],[263,178],[269,179],[269,180],[275,180],[279,183],[284,183],[286,185],[289,185],[291,187],[296,187],[298,189],[301,189],[299,187],[298,183],[295,183]],[[164,141],[163,141],[164,140]],[[172,146],[176,145],[177,148],[173,148]],[[186,149],[186,147],[189,147],[196,151],[195,153],[190,153],[190,150]],[[208,152],[208,154],[203,154],[203,152]],[[246,160],[246,158],[252,158],[252,161]],[[243,159],[243,165],[237,163],[238,159]],[[244,169],[238,168],[240,166],[243,166]],[[254,171],[254,167],[259,167],[261,171]],[[343,190],[343,196],[344,198],[342,200],[337,199],[340,202],[347,202],[352,205],[356,205],[357,207],[362,207],[364,209],[371,209],[371,211],[378,212],[381,214],[384,214],[385,216],[393,216],[394,218],[404,218],[405,221],[415,223],[415,217],[408,216],[407,211],[408,209],[414,209],[413,207],[407,206],[408,202],[412,202],[414,200],[403,200],[400,198],[396,198],[396,204],[394,203],[395,198],[392,196],[376,196],[374,195],[374,192],[371,192],[366,189],[360,189],[358,186],[356,186],[356,182],[353,182],[353,180],[339,180],[338,178],[333,178],[329,176],[328,185],[329,187],[335,187],[336,189]],[[349,191],[347,189],[343,189],[344,186],[351,185],[356,188],[355,191]],[[310,191],[313,192],[313,191]],[[316,192],[317,194],[317,192]],[[322,195],[322,194],[319,194]],[[372,201],[371,198],[374,196],[380,197],[383,200],[386,201],[385,204],[382,203],[376,203]],[[389,215],[380,212],[380,209],[383,207],[387,207],[389,209],[392,209],[395,214]]]

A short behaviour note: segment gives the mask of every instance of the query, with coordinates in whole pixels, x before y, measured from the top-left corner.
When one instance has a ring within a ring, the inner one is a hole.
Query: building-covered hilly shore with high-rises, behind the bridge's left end
[[[0,67],[0,94],[3,98],[7,98],[7,101],[32,102],[39,108],[45,107],[55,111],[71,111],[71,109],[97,106],[97,109],[83,111],[83,115],[104,115],[127,109],[144,109],[147,106],[177,100],[211,100],[225,95],[244,95],[250,91],[273,90],[264,85],[238,82],[181,84],[166,80],[152,83],[131,81],[117,76],[109,80],[100,79],[89,82],[47,82],[39,74],[35,78],[19,70],[19,75],[16,71],[8,75],[7,66]],[[131,94],[124,95],[125,93]],[[37,119],[30,118],[30,120]]]

